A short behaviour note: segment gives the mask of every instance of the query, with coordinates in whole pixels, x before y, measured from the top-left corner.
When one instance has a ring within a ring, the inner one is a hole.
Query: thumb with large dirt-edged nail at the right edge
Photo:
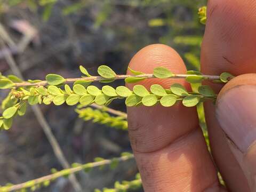
[[[252,191],[256,190],[256,74],[232,79],[217,99],[216,115]]]

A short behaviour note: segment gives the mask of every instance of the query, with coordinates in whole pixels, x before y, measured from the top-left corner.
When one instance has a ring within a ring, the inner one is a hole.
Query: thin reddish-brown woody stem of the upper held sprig
[[[172,77],[169,78],[186,78],[188,76],[196,76],[196,75],[185,75],[185,74],[174,74]],[[201,75],[204,79],[214,81],[219,80],[220,76],[214,76],[214,75]],[[156,78],[153,74],[143,74],[143,75],[116,75],[114,78],[117,79],[125,79],[127,77],[143,77],[143,78]],[[92,82],[98,82],[103,80],[108,80],[107,78],[101,77],[101,76],[91,76],[91,77],[81,77],[81,78],[66,78],[65,82],[68,83],[74,83],[76,81],[83,80],[83,81],[92,81]],[[38,83],[29,83],[29,82],[22,82],[22,83],[15,83],[15,87],[21,87],[21,86],[45,86],[48,85],[47,81],[42,81]]]

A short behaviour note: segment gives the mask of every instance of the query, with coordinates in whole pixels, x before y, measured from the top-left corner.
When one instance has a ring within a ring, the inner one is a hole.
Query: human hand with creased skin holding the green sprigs
[[[202,44],[202,73],[256,73],[256,1],[210,0]],[[178,53],[166,45],[139,51],[129,67],[152,73],[157,66],[186,74]],[[183,79],[143,81],[170,87]],[[222,86],[217,105],[206,102],[205,115],[213,159],[207,151],[195,108],[131,107],[129,135],[143,187],[151,191],[256,191],[256,75],[241,75]],[[131,86],[132,85],[127,85]],[[226,187],[219,183],[217,170]]]

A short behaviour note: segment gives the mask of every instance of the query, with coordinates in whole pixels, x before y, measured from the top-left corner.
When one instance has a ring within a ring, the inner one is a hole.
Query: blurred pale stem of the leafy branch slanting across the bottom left
[[[127,161],[127,160],[129,160],[131,158],[133,158],[133,155],[118,157],[118,158],[115,158],[115,161],[123,162],[123,161]],[[82,171],[82,170],[84,170],[86,168],[93,168],[93,167],[98,167],[98,166],[102,166],[102,165],[108,165],[108,164],[111,164],[112,162],[113,161],[111,159],[104,159],[104,160],[102,160],[100,162],[90,163],[90,167],[88,166],[89,165],[88,163],[84,164],[84,165],[79,165],[77,167],[66,169],[66,170],[62,170],[62,171],[59,171],[57,173],[46,175],[44,177],[41,177],[41,178],[38,178],[38,179],[35,179],[35,180],[31,180],[31,181],[20,183],[18,185],[13,185],[11,187],[7,187],[6,191],[13,191],[13,190],[19,190],[19,189],[22,189],[22,188],[33,187],[33,186],[35,186],[35,185],[37,185],[39,183],[43,183],[44,181],[51,181],[53,179],[62,177],[64,175],[66,175],[67,173],[68,174],[74,174],[74,173],[76,173],[78,171]]]

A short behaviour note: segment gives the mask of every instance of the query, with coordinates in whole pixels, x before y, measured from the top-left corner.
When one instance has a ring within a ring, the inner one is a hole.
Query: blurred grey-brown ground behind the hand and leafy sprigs
[[[107,65],[117,74],[125,74],[132,56],[153,43],[172,46],[188,69],[199,70],[204,26],[197,12],[203,5],[206,0],[0,0],[0,71],[44,79],[49,73],[79,77],[79,65],[95,75],[98,66]],[[113,85],[123,84],[116,81]],[[0,102],[6,94],[0,92]],[[122,100],[110,107],[126,110]],[[70,164],[131,152],[126,131],[85,122],[74,107],[40,108]],[[9,131],[0,133],[0,185],[42,177],[50,174],[52,167],[63,169],[29,108]],[[137,172],[132,160],[115,170],[79,172],[76,178],[83,191],[93,191],[111,188],[115,181],[133,180]],[[60,178],[38,191],[74,188],[68,179]]]

